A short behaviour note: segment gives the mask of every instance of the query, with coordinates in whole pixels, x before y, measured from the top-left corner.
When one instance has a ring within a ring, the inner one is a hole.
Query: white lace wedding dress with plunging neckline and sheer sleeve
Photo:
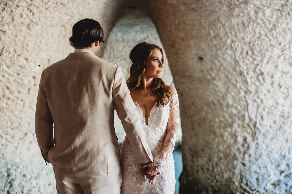
[[[127,136],[121,146],[121,170],[123,174],[122,194],[163,193],[173,194],[175,190],[175,172],[172,151],[179,125],[178,95],[172,94],[168,104],[154,104],[146,125],[143,110],[135,102],[146,134],[147,143],[151,149],[156,170],[160,175],[150,184],[150,179],[144,180],[139,171],[139,163],[132,151],[132,145]]]

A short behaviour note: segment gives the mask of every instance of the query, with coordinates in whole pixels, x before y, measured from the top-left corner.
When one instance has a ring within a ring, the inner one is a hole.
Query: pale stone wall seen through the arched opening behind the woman
[[[123,17],[119,19],[109,34],[102,58],[119,65],[122,68],[125,78],[128,78],[130,76],[131,66],[129,54],[135,45],[140,42],[150,42],[159,45],[162,49],[163,46],[154,24],[145,13],[125,7],[121,11],[121,15],[123,15]],[[166,85],[174,86],[164,49],[163,52],[165,63],[161,79]],[[122,143],[126,134],[116,111],[114,122],[119,143]],[[181,137],[182,133],[181,130],[179,130],[177,143],[181,142]]]

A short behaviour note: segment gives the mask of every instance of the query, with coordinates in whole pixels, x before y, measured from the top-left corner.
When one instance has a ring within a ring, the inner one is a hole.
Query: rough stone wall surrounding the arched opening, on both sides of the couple
[[[125,2],[0,2],[1,192],[54,192],[34,137],[41,71],[73,50],[76,21],[108,36],[125,4],[152,19],[179,92],[181,193],[291,193],[291,2]]]

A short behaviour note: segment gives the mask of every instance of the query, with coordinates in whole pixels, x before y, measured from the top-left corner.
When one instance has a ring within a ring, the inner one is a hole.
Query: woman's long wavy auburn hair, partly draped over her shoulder
[[[141,42],[132,49],[130,53],[130,59],[132,61],[132,65],[130,67],[130,77],[126,81],[130,89],[143,87],[141,83],[141,77],[146,70],[146,60],[150,58],[152,51],[155,49],[158,49],[161,52],[163,64],[163,51],[158,45]],[[154,78],[150,88],[154,95],[156,95],[158,98],[157,107],[159,104],[164,106],[169,102],[170,92],[166,88],[165,83],[161,78]]]

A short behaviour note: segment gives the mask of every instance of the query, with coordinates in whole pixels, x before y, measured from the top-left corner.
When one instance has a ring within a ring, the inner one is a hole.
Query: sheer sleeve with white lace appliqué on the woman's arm
[[[178,133],[179,102],[178,102],[178,94],[175,88],[172,88],[169,103],[170,103],[169,118],[168,118],[164,143],[161,149],[161,155],[159,159],[153,162],[153,165],[157,166],[156,170],[158,172],[161,171],[164,165],[168,165],[167,160],[168,160],[168,157],[172,154],[172,151],[174,150],[174,144],[175,144],[176,136]]]

